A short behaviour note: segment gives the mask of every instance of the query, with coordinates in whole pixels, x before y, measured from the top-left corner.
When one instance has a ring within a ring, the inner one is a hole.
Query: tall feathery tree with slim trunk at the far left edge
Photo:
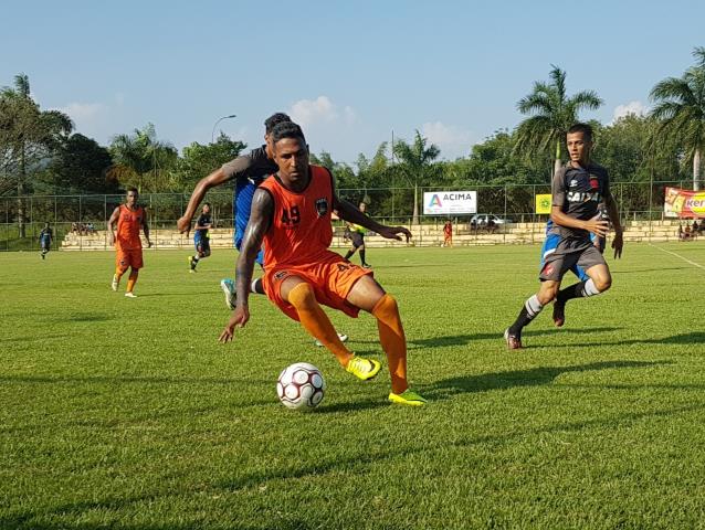
[[[25,235],[22,195],[29,191],[29,178],[51,159],[72,129],[64,113],[40,109],[30,95],[27,75],[15,75],[14,86],[0,91],[0,192],[17,190],[20,237]]]

